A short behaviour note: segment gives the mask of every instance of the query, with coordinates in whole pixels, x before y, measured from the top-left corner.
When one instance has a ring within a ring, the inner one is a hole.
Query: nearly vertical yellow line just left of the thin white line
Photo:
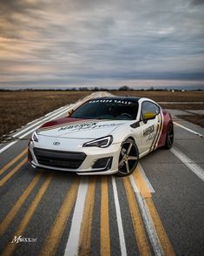
[[[101,255],[110,255],[109,241],[109,191],[106,176],[102,177],[101,196]]]

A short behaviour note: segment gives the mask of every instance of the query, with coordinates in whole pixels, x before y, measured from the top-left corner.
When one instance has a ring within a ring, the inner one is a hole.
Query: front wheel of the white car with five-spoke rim
[[[135,141],[128,138],[122,142],[121,152],[118,162],[118,172],[117,176],[127,176],[134,172],[136,165],[139,160],[139,152]]]

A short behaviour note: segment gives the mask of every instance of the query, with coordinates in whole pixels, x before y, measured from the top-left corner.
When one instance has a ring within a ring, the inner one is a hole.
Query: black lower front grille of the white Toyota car
[[[63,152],[34,148],[37,162],[40,165],[52,167],[77,169],[86,158],[83,152]]]

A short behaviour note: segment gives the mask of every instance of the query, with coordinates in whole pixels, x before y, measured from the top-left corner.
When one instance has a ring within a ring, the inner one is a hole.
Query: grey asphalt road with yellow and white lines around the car
[[[32,130],[69,108],[0,145],[1,255],[203,255],[204,129],[174,117],[174,147],[125,179],[32,169]]]

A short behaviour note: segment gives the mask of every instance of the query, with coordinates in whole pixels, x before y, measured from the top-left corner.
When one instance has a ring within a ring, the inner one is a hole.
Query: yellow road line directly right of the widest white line
[[[95,202],[95,177],[89,180],[89,189],[83,210],[82,226],[80,231],[79,256],[90,254],[91,224]]]

